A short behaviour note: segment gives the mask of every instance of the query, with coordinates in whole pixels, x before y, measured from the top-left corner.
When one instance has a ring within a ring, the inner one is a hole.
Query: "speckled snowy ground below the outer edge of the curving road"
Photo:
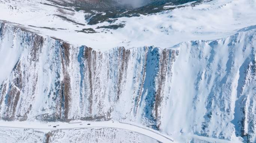
[[[158,143],[157,140],[133,131],[117,128],[80,128],[68,130],[35,130],[0,127],[1,143]]]

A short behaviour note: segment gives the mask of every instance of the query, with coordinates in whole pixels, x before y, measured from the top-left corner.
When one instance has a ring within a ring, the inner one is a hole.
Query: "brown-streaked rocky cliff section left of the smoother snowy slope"
[[[160,121],[178,50],[101,52],[1,25],[2,119]]]

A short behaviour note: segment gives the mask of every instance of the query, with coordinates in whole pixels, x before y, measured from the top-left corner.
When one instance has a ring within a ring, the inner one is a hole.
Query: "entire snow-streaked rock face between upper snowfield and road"
[[[98,51],[0,25],[1,120],[132,121],[256,141],[255,29],[166,49]]]

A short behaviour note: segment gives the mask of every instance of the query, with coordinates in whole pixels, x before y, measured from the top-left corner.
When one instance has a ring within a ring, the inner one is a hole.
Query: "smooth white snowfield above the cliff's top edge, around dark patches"
[[[254,0],[213,0],[194,7],[180,7],[156,15],[119,18],[112,24],[125,21],[124,28],[101,32],[103,29],[95,28],[109,25],[109,23],[87,25],[84,19],[86,13],[82,11],[73,12],[62,9],[63,13],[57,7],[40,2],[49,3],[45,0],[2,2],[0,3],[0,13],[8,14],[0,15],[0,19],[19,23],[26,27],[33,25],[67,29],[52,31],[29,27],[39,31],[42,35],[57,37],[76,46],[86,45],[102,51],[120,46],[131,48],[154,45],[168,48],[184,41],[224,38],[256,23],[256,2]],[[16,9],[10,9],[9,6],[16,6]],[[67,22],[54,16],[55,14],[67,16],[85,26]],[[85,34],[75,31],[83,28],[93,28],[100,33]]]

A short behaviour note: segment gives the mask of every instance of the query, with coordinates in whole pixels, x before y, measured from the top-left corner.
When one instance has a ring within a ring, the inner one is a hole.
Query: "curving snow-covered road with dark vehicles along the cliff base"
[[[54,128],[53,126],[56,126]],[[151,137],[152,139],[158,140],[162,143],[173,143],[174,140],[169,137],[164,136],[158,131],[152,130],[150,128],[140,127],[138,125],[112,122],[112,121],[102,121],[102,122],[89,122],[89,121],[79,121],[77,123],[62,123],[62,122],[19,122],[19,121],[0,121],[1,128],[26,128],[34,130],[69,130],[69,129],[79,129],[79,128],[118,128],[122,130],[134,131],[145,136]]]

